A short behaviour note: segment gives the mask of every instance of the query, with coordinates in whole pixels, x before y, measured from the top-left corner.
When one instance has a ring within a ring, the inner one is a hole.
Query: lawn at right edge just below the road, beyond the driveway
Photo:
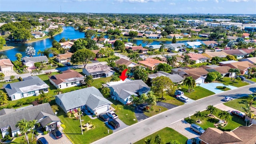
[[[224,105],[229,106],[230,108],[239,110],[241,112],[244,112],[242,107],[245,107],[245,104],[247,102],[248,102],[248,100],[246,99],[246,97],[242,97],[242,98],[237,98],[237,99],[231,100],[229,102],[225,102]],[[255,101],[252,103],[252,106],[256,107]]]

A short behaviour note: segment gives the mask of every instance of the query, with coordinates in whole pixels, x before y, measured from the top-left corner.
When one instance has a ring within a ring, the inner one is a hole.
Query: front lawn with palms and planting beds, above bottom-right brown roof
[[[218,117],[218,113],[221,112],[220,109],[217,108],[217,112],[216,114],[214,114],[214,116]],[[198,124],[196,121],[198,120],[194,115],[191,116],[191,118],[185,118],[186,122],[192,124],[197,124],[199,126],[201,126],[204,130],[206,130],[209,127],[215,128],[214,124],[216,122],[218,122],[218,119],[212,118],[207,116],[207,114],[209,114],[209,112],[207,112],[206,110],[203,111],[203,113],[205,114],[205,118],[204,120],[201,120],[201,124]],[[239,118],[238,116],[234,116],[231,115],[230,120],[228,120],[228,124],[224,127],[224,128],[220,128],[220,130],[223,131],[230,131],[230,130],[234,130],[235,128],[237,128],[238,126],[245,126],[245,122],[242,118]]]

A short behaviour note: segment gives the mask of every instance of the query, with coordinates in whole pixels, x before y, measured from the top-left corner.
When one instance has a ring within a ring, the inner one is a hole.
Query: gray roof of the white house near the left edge
[[[25,93],[34,90],[41,90],[44,88],[49,88],[49,86],[40,78],[38,78],[38,76],[29,76],[28,78],[24,78],[23,81],[20,82],[4,84],[4,89],[9,96],[17,92]]]

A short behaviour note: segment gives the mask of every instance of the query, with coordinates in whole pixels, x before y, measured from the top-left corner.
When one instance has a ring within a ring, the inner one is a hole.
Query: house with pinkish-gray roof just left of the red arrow
[[[114,74],[114,70],[106,64],[98,64],[83,68],[83,74],[92,75],[93,78],[110,77]]]

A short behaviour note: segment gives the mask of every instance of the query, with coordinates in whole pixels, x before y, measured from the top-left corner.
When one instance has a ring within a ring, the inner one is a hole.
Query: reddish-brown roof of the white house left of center
[[[61,84],[62,82],[68,82],[70,78],[82,78],[82,74],[79,74],[75,70],[65,70],[62,74],[56,74],[54,76],[48,76],[55,84]]]

